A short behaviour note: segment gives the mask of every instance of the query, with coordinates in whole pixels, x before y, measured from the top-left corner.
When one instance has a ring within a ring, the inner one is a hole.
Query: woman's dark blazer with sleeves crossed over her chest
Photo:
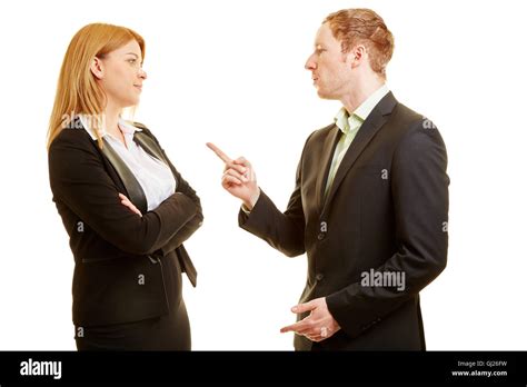
[[[53,201],[76,262],[76,326],[167,314],[169,300],[181,297],[181,280],[175,275],[180,270],[187,271],[196,285],[196,270],[182,242],[202,222],[200,200],[150,130],[136,126],[142,131],[137,131],[133,140],[166,162],[177,182],[176,192],[152,211],[147,211],[145,192],[128,167],[107,142],[101,150],[80,120],[63,129],[49,149]],[[136,205],[142,217],[120,202],[119,192]]]

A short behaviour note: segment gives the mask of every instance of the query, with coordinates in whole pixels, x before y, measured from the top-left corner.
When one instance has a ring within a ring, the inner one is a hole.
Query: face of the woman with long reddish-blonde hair
[[[147,73],[142,70],[141,49],[136,40],[102,59],[95,58],[91,71],[102,85],[109,105],[116,108],[138,105]]]

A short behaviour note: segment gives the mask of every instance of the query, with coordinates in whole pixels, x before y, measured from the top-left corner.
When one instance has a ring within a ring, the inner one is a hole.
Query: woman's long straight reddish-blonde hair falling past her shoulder
[[[136,31],[120,26],[92,23],[81,28],[71,39],[60,69],[53,110],[49,120],[47,149],[54,138],[71,125],[76,115],[88,115],[98,126],[96,117],[102,117],[106,95],[90,70],[95,57],[103,58],[109,52],[136,40],[145,59],[145,40]],[[102,139],[97,132],[97,142]]]

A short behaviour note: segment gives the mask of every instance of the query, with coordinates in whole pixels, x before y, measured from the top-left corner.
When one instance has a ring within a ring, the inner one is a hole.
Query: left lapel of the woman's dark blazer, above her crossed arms
[[[108,161],[112,165],[113,169],[119,175],[125,188],[127,189],[128,199],[145,214],[148,211],[147,197],[142,190],[141,185],[137,181],[132,171],[127,167],[125,161],[119,157],[116,150],[110,146],[106,138],[102,138],[102,155],[106,156]]]

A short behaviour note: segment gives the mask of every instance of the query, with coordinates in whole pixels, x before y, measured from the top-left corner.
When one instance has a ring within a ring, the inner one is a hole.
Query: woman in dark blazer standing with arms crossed
[[[201,226],[199,198],[145,126],[125,121],[143,81],[145,41],[95,23],[71,40],[48,132],[53,201],[74,257],[79,350],[189,350],[182,242]]]

